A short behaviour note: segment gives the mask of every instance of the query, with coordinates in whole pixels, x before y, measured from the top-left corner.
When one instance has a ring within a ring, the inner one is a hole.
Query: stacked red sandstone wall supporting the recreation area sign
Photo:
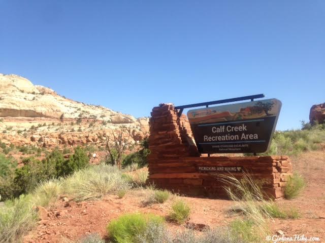
[[[186,195],[225,197],[224,184],[219,174],[229,172],[203,172],[202,167],[230,168],[236,178],[243,171],[263,183],[264,191],[273,198],[283,196],[283,188],[292,166],[287,156],[202,157],[193,141],[186,115],[177,116],[172,104],[154,107],[149,121],[149,183]]]

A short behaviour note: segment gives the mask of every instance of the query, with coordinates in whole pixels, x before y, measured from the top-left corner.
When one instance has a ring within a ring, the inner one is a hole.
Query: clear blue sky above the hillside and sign
[[[278,130],[325,102],[325,1],[4,1],[0,72],[136,117],[264,93]]]

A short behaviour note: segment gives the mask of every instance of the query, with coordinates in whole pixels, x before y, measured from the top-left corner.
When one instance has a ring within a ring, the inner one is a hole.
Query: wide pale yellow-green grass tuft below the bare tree
[[[79,170],[64,182],[64,190],[76,201],[101,198],[128,188],[129,184],[122,178],[121,172],[104,164]]]

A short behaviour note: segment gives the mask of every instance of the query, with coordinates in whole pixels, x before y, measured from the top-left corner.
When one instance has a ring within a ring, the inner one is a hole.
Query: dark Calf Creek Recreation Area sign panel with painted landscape
[[[221,105],[187,112],[200,153],[263,153],[281,109],[277,99]]]

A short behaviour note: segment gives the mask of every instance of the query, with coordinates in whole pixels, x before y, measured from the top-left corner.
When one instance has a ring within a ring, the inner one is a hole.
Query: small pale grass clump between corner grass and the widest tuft
[[[62,191],[63,180],[50,179],[37,185],[32,193],[37,205],[46,207],[53,203]]]

